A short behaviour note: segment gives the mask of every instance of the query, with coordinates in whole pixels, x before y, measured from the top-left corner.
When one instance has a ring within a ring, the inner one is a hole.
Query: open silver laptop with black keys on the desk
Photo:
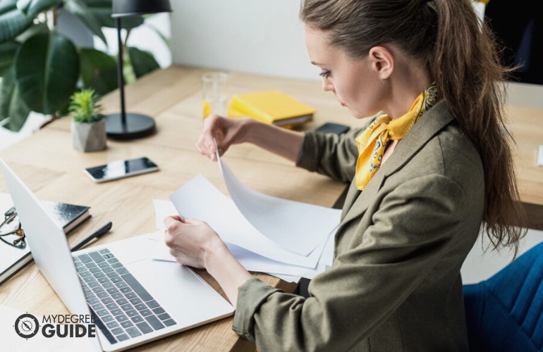
[[[182,265],[150,258],[142,234],[71,252],[66,234],[0,158],[35,263],[73,315],[94,315],[97,343],[120,351],[233,314],[204,279]]]

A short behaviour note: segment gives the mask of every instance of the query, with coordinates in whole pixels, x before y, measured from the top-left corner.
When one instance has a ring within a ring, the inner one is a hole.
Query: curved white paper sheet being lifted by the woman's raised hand
[[[281,246],[307,256],[340,222],[337,209],[281,199],[245,187],[217,153],[228,193],[243,216],[260,233]]]

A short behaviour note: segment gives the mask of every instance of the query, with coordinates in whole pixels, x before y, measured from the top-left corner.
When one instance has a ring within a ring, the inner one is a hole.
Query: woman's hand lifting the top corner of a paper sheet
[[[204,120],[204,128],[198,142],[197,151],[216,161],[216,147],[222,156],[232,144],[245,142],[250,118],[225,118],[212,114]]]

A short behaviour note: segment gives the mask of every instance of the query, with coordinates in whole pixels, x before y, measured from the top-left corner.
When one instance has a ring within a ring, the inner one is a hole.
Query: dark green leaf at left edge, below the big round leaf
[[[4,127],[18,132],[25,125],[30,108],[20,99],[14,76],[11,68],[0,81],[0,121],[9,118]]]

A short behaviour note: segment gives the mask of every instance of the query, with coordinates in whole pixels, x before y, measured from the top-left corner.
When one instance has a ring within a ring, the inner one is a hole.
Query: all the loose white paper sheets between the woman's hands
[[[218,160],[231,199],[197,175],[170,197],[179,215],[207,222],[247,270],[296,282],[331,266],[341,210],[261,194]],[[173,260],[162,253],[154,258]]]

